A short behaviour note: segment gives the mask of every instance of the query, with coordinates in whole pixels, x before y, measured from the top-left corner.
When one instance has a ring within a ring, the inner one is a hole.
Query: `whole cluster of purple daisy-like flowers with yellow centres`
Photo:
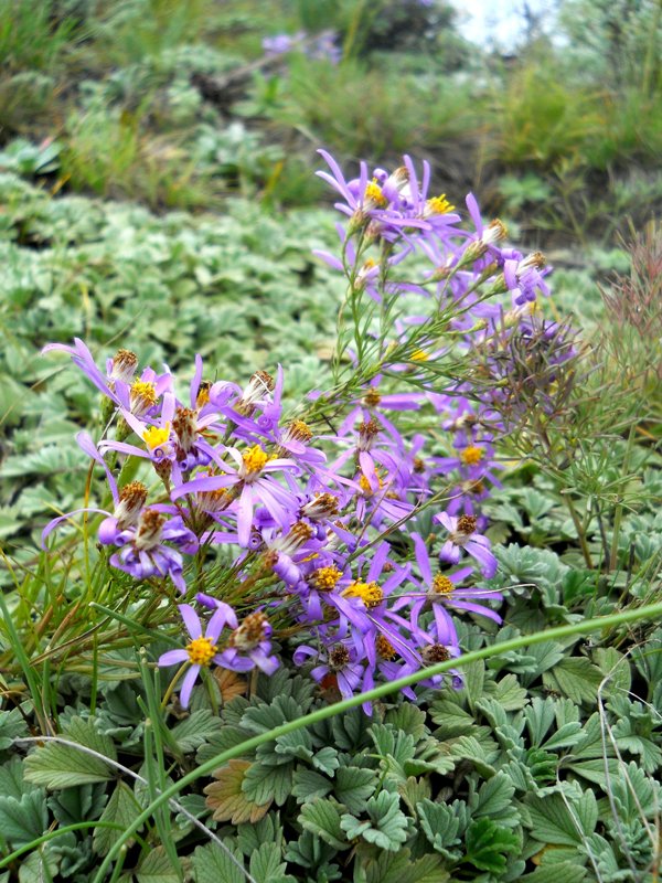
[[[167,368],[138,376],[126,350],[104,371],[79,340],[46,348],[67,352],[104,396],[103,437],[78,444],[109,482],[98,534],[109,564],[161,589],[169,578],[181,595],[189,642],[159,664],[188,667],[183,705],[212,663],[273,672],[275,640],[296,636],[295,662],[348,696],[459,656],[458,614],[501,621],[491,605],[502,597],[483,584],[496,558],[481,513],[499,483],[499,409],[457,364],[535,321],[544,262],[506,248],[472,196],[465,230],[430,195],[427,164],[420,180],[406,157],[348,181],[321,152],[349,219],[341,256],[322,254],[349,286],[349,380],[339,369],[331,390],[288,409],[281,368],[242,386],[212,380],[197,357],[182,393]],[[398,281],[415,249],[430,269]],[[394,304],[412,298],[417,312],[394,321]],[[118,487],[115,467],[129,458],[141,480]]]

